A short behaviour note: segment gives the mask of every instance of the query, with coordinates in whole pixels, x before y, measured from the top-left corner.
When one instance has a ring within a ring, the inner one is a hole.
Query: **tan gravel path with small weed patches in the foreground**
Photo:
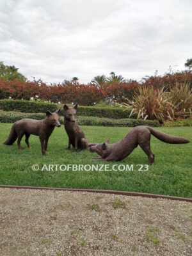
[[[0,255],[191,255],[191,203],[0,188]]]

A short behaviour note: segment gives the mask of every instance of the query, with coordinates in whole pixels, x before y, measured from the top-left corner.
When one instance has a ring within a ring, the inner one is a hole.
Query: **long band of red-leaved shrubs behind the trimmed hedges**
[[[120,79],[118,81],[118,79]],[[145,77],[138,83],[134,80],[125,81],[122,77],[114,78],[104,84],[79,84],[77,80],[67,83],[47,85],[42,80],[19,81],[0,80],[0,99],[24,99],[29,100],[38,96],[42,100],[51,102],[78,103],[84,106],[93,106],[104,100],[110,104],[124,102],[132,99],[134,92],[141,86],[152,86],[153,88],[174,88],[175,84],[188,83],[192,86],[192,74],[190,71],[167,73],[164,76]]]

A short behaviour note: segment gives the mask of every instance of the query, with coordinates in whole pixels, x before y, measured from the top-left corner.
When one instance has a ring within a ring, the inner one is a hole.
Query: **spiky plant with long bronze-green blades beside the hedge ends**
[[[188,84],[177,83],[170,88],[170,92],[153,88],[153,86],[141,86],[134,93],[133,100],[127,99],[128,103],[119,104],[127,109],[132,109],[138,119],[164,120],[175,118],[187,118],[192,115],[192,90]]]

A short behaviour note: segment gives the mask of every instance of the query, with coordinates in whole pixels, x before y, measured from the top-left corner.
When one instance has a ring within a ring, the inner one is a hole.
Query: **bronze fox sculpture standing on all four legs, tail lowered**
[[[34,120],[24,118],[12,125],[12,129],[10,131],[10,135],[8,136],[7,140],[4,141],[4,145],[12,145],[15,140],[17,140],[17,145],[19,149],[20,147],[20,140],[25,135],[26,136],[26,144],[28,148],[31,148],[29,145],[29,136],[31,134],[39,136],[40,142],[42,145],[42,154],[45,155],[45,151],[47,150],[47,143],[49,140],[49,136],[51,136],[54,127],[60,127],[60,120],[59,120],[59,112],[60,109],[56,110],[54,113],[50,111],[46,111],[47,117],[43,120]]]

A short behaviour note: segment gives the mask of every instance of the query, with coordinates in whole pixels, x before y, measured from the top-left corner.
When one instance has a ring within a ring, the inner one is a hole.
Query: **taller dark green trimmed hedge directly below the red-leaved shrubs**
[[[47,110],[54,112],[61,108],[63,115],[63,104],[55,104],[50,102],[38,102],[32,100],[0,100],[0,109],[4,111],[20,111],[23,113],[45,113]],[[128,118],[131,111],[124,111],[122,108],[112,107],[88,107],[78,106],[77,115],[80,116],[98,116],[112,119]],[[132,116],[132,118],[136,118]]]

